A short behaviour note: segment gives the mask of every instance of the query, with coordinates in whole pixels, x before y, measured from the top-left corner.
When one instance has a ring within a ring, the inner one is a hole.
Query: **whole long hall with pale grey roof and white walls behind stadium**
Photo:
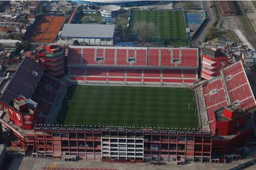
[[[105,24],[65,24],[59,39],[60,44],[80,44],[113,46],[115,25]]]

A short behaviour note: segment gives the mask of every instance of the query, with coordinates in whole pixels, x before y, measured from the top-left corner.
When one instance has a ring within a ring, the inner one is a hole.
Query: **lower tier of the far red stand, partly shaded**
[[[68,77],[76,81],[116,81],[139,83],[194,83],[196,70],[109,69],[69,67]]]

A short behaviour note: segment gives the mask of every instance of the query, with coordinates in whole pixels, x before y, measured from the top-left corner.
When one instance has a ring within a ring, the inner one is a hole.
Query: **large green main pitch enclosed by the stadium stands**
[[[60,124],[199,127],[196,98],[184,87],[72,86]]]

